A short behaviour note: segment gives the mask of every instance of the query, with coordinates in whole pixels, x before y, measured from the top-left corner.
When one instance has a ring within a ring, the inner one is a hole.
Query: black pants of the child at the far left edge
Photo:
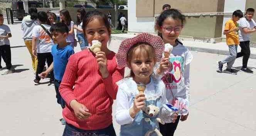
[[[11,46],[10,45],[1,45],[0,46],[0,56],[2,56],[3,61],[5,61],[6,69],[10,70],[12,67],[12,55],[11,55]],[[1,57],[0,57],[1,59]],[[0,60],[1,64],[1,60]]]

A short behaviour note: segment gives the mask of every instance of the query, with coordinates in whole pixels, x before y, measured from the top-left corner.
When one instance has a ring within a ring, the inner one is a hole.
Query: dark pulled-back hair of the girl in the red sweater
[[[89,12],[87,12],[83,18],[83,31],[84,31],[84,35],[85,35],[85,30],[86,30],[86,26],[88,25],[89,22],[91,22],[94,18],[97,18],[98,20],[102,20],[104,22],[104,25],[106,26],[106,28],[108,29],[108,34],[109,34],[109,41],[110,41],[110,34],[111,32],[109,32],[110,30],[110,24],[108,22],[108,17],[98,11],[98,10],[91,10]]]

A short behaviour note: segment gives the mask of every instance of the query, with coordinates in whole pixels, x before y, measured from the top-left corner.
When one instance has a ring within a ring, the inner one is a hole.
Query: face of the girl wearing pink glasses
[[[180,35],[180,32],[177,33],[177,32],[174,32],[173,30],[167,31],[165,28],[168,28],[168,27],[175,28],[175,27],[181,27],[181,26],[182,26],[182,22],[180,19],[173,19],[172,17],[166,18],[163,21],[163,25],[161,26],[162,28],[158,28],[159,33],[161,33],[163,36],[163,41],[165,41],[165,43],[173,43]]]

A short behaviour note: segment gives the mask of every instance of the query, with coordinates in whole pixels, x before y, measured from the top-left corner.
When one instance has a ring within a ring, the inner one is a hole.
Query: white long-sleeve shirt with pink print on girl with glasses
[[[190,100],[190,63],[193,56],[189,49],[178,42],[178,45],[173,47],[172,54],[169,56],[173,68],[168,71],[165,75],[157,75],[155,71],[156,78],[162,78],[166,86],[166,98],[168,103],[172,102],[173,96],[175,98],[185,98]],[[157,63],[156,68],[160,66]],[[172,95],[173,93],[173,95]],[[188,105],[187,105],[188,106]]]

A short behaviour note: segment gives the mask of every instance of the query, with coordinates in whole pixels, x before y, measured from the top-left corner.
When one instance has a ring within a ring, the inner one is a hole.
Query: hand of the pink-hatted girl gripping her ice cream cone
[[[140,111],[141,108],[145,106],[145,95],[143,93],[140,93],[135,96],[135,99],[133,101],[133,107],[130,108],[130,116],[131,118],[135,118],[136,114]]]

